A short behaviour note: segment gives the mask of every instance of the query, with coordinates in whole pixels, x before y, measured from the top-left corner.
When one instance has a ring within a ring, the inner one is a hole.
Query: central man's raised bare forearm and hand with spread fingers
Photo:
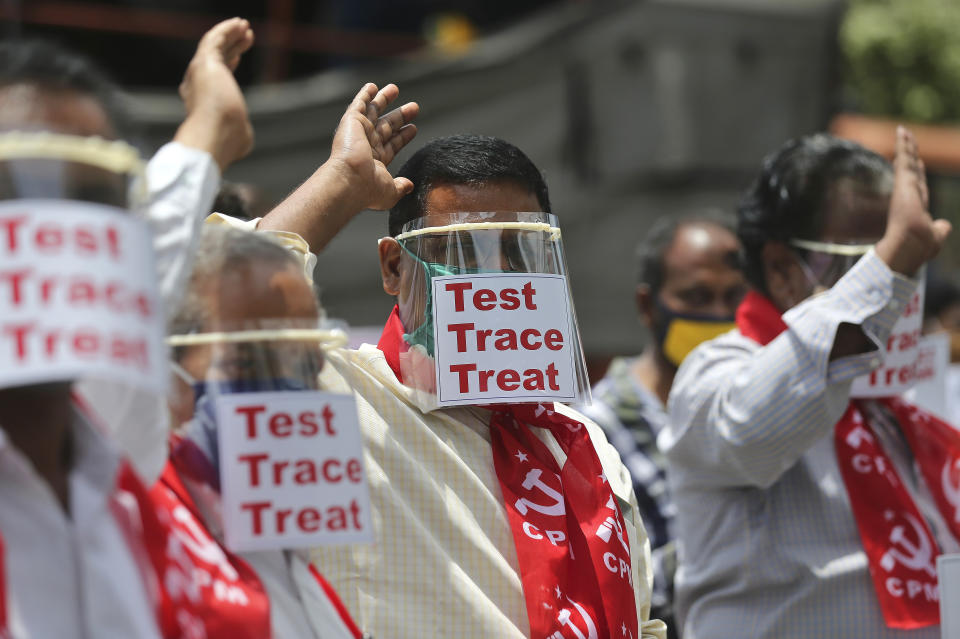
[[[322,250],[365,209],[386,210],[413,189],[387,165],[417,133],[415,102],[386,112],[400,91],[388,84],[365,85],[340,119],[330,158],[258,225],[264,231],[299,234],[311,250]]]

